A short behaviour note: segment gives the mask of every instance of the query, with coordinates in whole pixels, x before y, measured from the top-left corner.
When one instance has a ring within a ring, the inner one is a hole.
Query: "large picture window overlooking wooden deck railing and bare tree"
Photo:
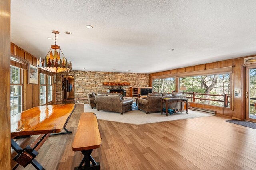
[[[180,78],[180,86],[190,102],[230,108],[231,74],[215,74]]]

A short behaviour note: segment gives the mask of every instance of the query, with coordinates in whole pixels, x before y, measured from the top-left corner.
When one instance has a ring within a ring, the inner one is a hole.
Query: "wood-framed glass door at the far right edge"
[[[256,121],[256,66],[247,67],[246,74],[246,120]]]

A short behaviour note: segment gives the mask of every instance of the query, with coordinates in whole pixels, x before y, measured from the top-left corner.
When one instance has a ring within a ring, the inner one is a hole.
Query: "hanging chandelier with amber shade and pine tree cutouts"
[[[59,34],[59,32],[52,31],[52,33],[55,34],[55,45],[51,45],[49,52],[43,60],[41,60],[40,57],[38,61],[38,67],[51,72],[63,72],[72,70],[71,62],[68,62],[62,53],[60,46],[56,45],[56,34]]]

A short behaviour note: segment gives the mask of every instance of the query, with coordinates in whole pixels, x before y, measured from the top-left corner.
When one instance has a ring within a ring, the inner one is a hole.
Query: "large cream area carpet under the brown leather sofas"
[[[120,113],[115,113],[111,111],[97,111],[96,109],[91,109],[89,104],[84,104],[84,112],[94,112],[97,115],[97,118],[100,120],[106,121],[115,121],[120,123],[128,123],[134,125],[143,125],[148,123],[157,123],[163,121],[173,121],[173,120],[180,120],[180,119],[192,119],[196,117],[205,117],[205,116],[213,116],[214,114],[204,113],[201,111],[193,111],[189,110],[188,114],[186,111],[182,113],[174,113],[172,115],[168,115],[166,117],[165,114],[161,115],[159,113],[149,113],[148,115],[141,110],[132,110],[127,111],[123,115]]]

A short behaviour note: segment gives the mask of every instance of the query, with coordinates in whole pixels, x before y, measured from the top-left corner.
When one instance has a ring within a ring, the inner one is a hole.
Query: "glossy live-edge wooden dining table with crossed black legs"
[[[11,147],[17,152],[13,158],[19,165],[32,164],[37,170],[44,167],[35,159],[38,150],[51,133],[59,133],[67,125],[75,104],[59,104],[33,107],[11,117],[11,136],[40,135],[31,145],[22,149],[13,139]]]

